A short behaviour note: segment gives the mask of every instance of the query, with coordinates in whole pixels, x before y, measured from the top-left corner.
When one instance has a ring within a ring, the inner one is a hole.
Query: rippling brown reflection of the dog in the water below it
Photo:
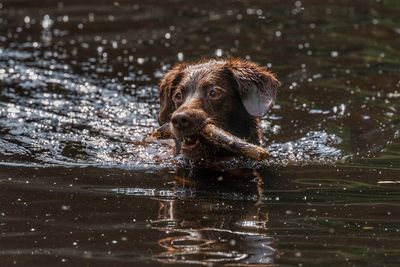
[[[268,211],[262,204],[264,179],[255,170],[180,171],[176,187],[192,197],[156,198],[153,229],[162,231],[154,256],[163,263],[269,265],[276,255],[267,235]],[[240,193],[239,193],[240,192]]]

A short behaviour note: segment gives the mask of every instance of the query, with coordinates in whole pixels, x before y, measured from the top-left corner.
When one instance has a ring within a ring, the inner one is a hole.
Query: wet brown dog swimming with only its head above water
[[[279,85],[267,69],[240,59],[179,63],[161,80],[158,122],[170,122],[187,159],[228,155],[199,134],[205,122],[260,143],[259,118],[272,108]]]

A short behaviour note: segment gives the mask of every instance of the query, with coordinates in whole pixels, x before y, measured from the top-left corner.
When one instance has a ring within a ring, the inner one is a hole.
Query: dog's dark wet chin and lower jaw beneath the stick
[[[185,136],[181,139],[181,154],[189,160],[200,160],[209,157],[210,144],[199,135]]]

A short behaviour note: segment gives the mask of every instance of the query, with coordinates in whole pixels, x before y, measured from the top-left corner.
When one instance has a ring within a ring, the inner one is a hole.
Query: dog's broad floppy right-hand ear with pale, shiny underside
[[[232,72],[240,98],[247,112],[254,117],[262,117],[275,103],[280,82],[266,68],[257,64],[230,60],[228,68]]]

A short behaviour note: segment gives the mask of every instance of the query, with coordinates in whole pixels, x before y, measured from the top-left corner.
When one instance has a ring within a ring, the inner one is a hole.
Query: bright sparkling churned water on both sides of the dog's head
[[[0,94],[0,151],[63,166],[137,169],[183,164],[173,158],[168,142],[142,142],[157,127],[156,87],[130,91],[114,80],[76,75],[54,60],[32,62],[37,57],[13,50],[0,54],[0,83],[5,88]],[[334,135],[310,132],[297,141],[272,144],[272,157],[264,164],[335,161],[341,153],[330,145],[339,142]]]

